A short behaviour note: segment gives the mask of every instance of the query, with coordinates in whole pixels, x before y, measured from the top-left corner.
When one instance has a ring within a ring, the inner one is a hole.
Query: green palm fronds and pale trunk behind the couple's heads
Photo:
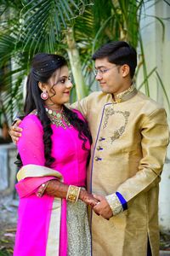
[[[0,0],[0,68],[3,68],[0,93],[4,98],[0,102],[1,113],[10,122],[20,109],[23,79],[37,52],[68,57],[76,84],[72,101],[98,89],[91,55],[111,40],[126,40],[135,48],[139,45],[137,75],[141,67],[144,70],[144,83],[139,87],[144,85],[149,95],[147,80],[157,71],[154,68],[148,73],[144,62],[139,30],[143,7],[144,0]],[[158,20],[163,27],[162,20]]]

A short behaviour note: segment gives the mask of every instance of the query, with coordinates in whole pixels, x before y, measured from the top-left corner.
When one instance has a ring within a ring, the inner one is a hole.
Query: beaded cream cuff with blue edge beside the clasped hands
[[[127,209],[127,207],[124,207],[127,206],[127,202],[120,193],[116,192],[114,194],[105,196],[105,198],[111,207],[113,216]]]

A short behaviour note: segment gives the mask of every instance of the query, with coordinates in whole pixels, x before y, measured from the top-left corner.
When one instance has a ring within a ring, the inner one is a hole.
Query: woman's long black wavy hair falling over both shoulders
[[[33,110],[37,110],[37,117],[42,123],[43,129],[43,143],[44,143],[44,156],[45,166],[52,166],[54,163],[54,157],[52,157],[52,140],[51,136],[53,130],[51,128],[51,121],[48,118],[46,110],[44,108],[44,102],[41,98],[42,90],[38,86],[38,82],[48,83],[48,79],[54,74],[54,72],[61,67],[67,65],[65,58],[59,55],[51,55],[40,53],[34,56],[31,62],[31,72],[28,75],[26,82],[26,101],[24,105],[24,113],[27,115]],[[53,87],[52,87],[53,88]],[[86,150],[85,143],[89,140],[92,142],[90,132],[88,130],[88,124],[79,119],[77,113],[71,111],[71,109],[64,106],[65,117],[69,120],[78,131],[78,137],[82,139],[82,148]],[[20,160],[20,154],[17,156],[17,166],[22,166]]]

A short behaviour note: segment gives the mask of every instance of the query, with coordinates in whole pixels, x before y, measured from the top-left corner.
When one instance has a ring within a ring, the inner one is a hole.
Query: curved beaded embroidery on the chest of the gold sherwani
[[[116,113],[122,114],[122,116],[124,118],[124,124],[120,128],[113,131],[113,136],[111,136],[111,143],[113,143],[116,139],[118,139],[119,137],[122,136],[122,134],[125,131],[125,128],[127,126],[128,117],[130,115],[130,112],[128,112],[128,111],[124,111],[124,112],[123,111],[115,111],[114,108],[112,108],[112,107],[106,108],[103,129],[105,129],[105,127],[107,126],[108,119],[109,119],[110,115],[113,115]]]

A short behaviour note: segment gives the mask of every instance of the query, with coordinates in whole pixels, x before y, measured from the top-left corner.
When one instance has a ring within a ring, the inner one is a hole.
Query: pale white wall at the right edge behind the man
[[[168,2],[168,1],[167,1]],[[164,20],[164,39],[161,23],[154,16]],[[170,6],[163,0],[147,1],[144,5],[141,20],[141,34],[144,44],[147,71],[157,67],[161,80],[167,90],[170,99]],[[138,84],[143,81],[142,72],[139,73]],[[167,119],[170,123],[170,110],[167,108],[166,98],[161,90],[161,85],[153,74],[150,79],[150,97],[159,102],[167,110]],[[144,88],[142,88],[144,91]],[[161,175],[160,197],[159,197],[159,218],[161,231],[170,231],[170,147],[167,152],[167,160]]]

